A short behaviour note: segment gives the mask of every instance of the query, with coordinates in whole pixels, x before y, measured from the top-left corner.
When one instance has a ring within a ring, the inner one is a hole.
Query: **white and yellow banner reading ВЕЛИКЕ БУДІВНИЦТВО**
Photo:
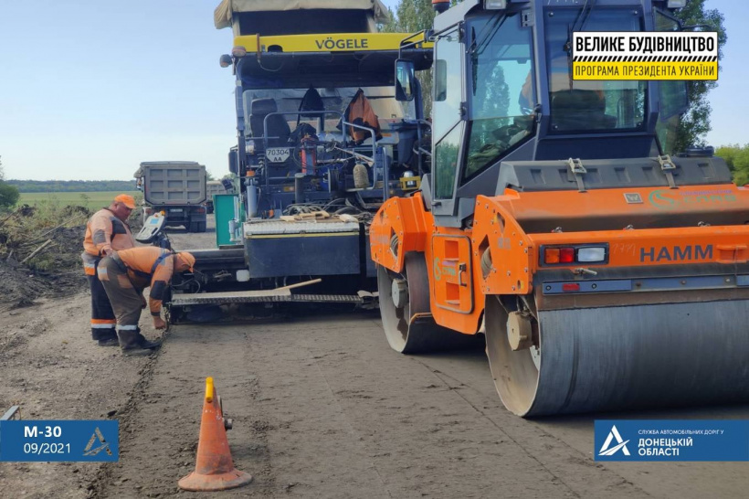
[[[577,32],[574,80],[718,80],[715,32]]]

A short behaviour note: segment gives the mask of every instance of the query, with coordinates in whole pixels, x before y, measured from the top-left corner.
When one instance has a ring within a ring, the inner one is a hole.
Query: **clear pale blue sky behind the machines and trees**
[[[0,156],[6,178],[132,178],[142,161],[227,173],[234,77],[218,58],[219,0],[0,0]],[[385,0],[395,6],[397,0]],[[749,3],[725,15],[708,142],[749,143]]]

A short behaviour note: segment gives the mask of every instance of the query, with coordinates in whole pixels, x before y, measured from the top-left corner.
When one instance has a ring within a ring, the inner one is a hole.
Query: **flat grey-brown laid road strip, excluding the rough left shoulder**
[[[482,352],[401,356],[376,315],[354,313],[174,327],[100,496],[179,494],[206,376],[234,419],[235,464],[255,475],[227,497],[737,497],[747,484],[745,463],[596,463],[594,417],[512,416]]]

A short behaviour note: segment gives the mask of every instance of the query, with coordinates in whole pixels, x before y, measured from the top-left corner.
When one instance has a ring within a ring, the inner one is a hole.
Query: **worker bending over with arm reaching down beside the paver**
[[[192,254],[186,251],[173,253],[154,246],[112,251],[100,261],[97,274],[117,317],[117,335],[123,354],[148,355],[161,345],[145,339],[138,327],[141,310],[146,306],[143,290],[151,286],[148,307],[153,327],[164,329],[162,302],[168,295],[172,275],[174,271],[193,271],[194,266]]]

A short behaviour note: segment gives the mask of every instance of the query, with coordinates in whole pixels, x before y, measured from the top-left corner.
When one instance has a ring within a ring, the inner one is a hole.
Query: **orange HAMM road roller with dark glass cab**
[[[680,33],[683,5],[436,16],[431,171],[370,231],[396,351],[485,340],[522,417],[749,400],[749,191],[711,148],[673,150],[683,81],[573,74],[575,33]]]

